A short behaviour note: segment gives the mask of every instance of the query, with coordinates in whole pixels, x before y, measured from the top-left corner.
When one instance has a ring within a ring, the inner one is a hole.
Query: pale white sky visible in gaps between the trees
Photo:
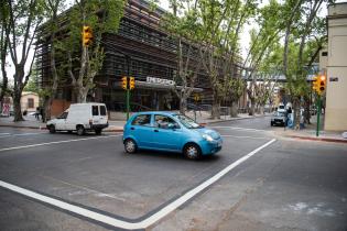
[[[347,0],[337,0],[336,2],[346,2]],[[67,0],[67,4],[71,6],[72,3],[74,2],[74,0]],[[263,4],[267,4],[269,2],[269,0],[262,0],[262,6]],[[163,8],[164,10],[170,10],[169,9],[169,0],[160,0],[159,1],[159,6],[161,8]],[[326,6],[324,6],[322,8],[322,11],[319,13],[322,16],[325,16],[327,14],[327,9],[326,9]],[[247,53],[248,53],[248,47],[249,47],[249,43],[250,43],[250,36],[249,36],[249,31],[252,29],[252,26],[254,25],[254,23],[252,23],[251,25],[250,24],[246,24],[243,31],[242,31],[242,34],[241,34],[241,37],[240,37],[240,46],[241,46],[241,56],[242,57],[246,57],[247,56]],[[29,66],[30,66],[30,62],[33,57],[33,51],[31,51],[30,53],[30,56],[28,58],[28,65],[26,65],[26,68],[25,68],[25,72],[28,73],[29,72]],[[8,57],[8,61],[10,61],[10,57]],[[9,68],[8,68],[8,76],[9,76],[9,80],[11,81],[12,78],[13,78],[13,74],[14,74],[14,68],[13,68],[13,65],[11,65]]]

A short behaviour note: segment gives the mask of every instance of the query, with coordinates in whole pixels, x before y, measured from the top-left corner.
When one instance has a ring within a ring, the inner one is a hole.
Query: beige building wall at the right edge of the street
[[[328,12],[325,130],[347,131],[347,3]]]

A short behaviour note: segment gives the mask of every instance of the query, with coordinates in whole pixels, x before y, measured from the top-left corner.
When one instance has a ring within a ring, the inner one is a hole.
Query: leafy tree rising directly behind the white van
[[[66,72],[74,90],[74,101],[85,102],[94,87],[94,77],[102,66],[104,33],[116,33],[123,14],[123,0],[76,0],[68,13],[68,36],[61,40],[59,51],[67,56]],[[93,30],[93,45],[82,45],[82,30]]]

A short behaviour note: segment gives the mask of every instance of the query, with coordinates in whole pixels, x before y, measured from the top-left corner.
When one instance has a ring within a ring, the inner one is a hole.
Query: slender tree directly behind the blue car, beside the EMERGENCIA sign
[[[180,99],[180,112],[185,114],[187,99],[192,95],[202,61],[198,51],[202,48],[204,33],[198,23],[197,0],[171,0],[172,13],[164,16],[163,28],[176,42],[177,70],[174,80],[174,92]],[[182,15],[178,15],[182,13]]]

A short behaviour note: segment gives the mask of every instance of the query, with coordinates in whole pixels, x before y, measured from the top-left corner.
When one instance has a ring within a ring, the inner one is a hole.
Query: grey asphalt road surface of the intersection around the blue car
[[[347,230],[346,144],[269,143],[269,118],[212,127],[224,147],[198,162],[0,128],[0,230]]]

